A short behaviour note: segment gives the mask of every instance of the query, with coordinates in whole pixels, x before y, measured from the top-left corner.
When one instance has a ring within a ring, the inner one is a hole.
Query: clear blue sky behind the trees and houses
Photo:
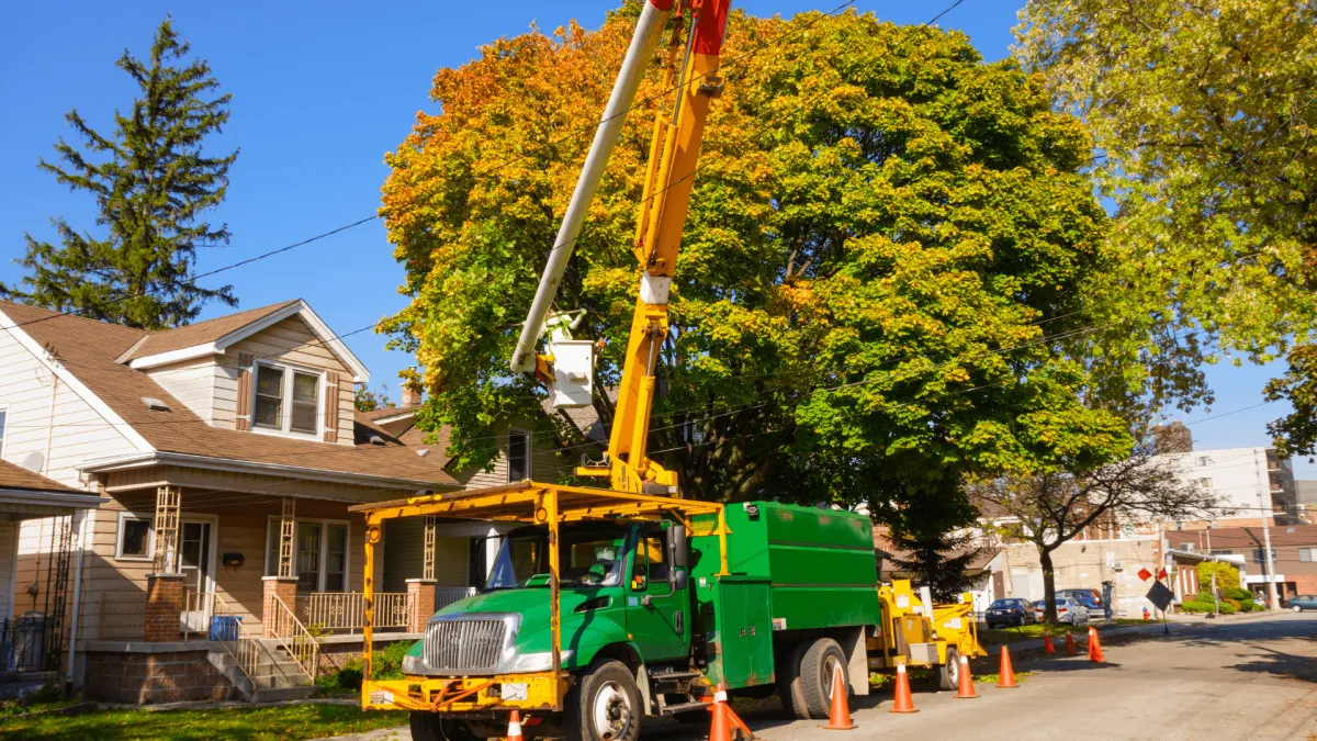
[[[735,0],[749,13],[790,16],[830,11],[842,0]],[[857,0],[855,7],[884,20],[917,24],[950,4]],[[0,281],[16,282],[11,262],[22,254],[22,232],[53,239],[49,218],[75,227],[92,224],[92,203],[70,194],[37,170],[53,156],[55,138],[72,140],[63,115],[76,107],[108,132],[116,107],[128,108],[134,90],[113,62],[130,47],[145,55],[151,32],[166,13],[175,29],[209,59],[233,94],[233,117],[216,148],[242,149],[230,175],[228,202],[212,220],[227,222],[230,247],[202,249],[199,272],[374,214],[387,170],[383,154],[407,134],[419,109],[432,109],[429,80],[440,67],[462,65],[481,44],[527,30],[552,30],[577,18],[598,26],[614,0],[471,5],[432,3],[59,3],[7,8],[0,30]],[[1009,54],[1019,0],[965,0],[939,22],[969,34],[988,59]],[[300,297],[336,332],[369,326],[406,305],[396,293],[402,268],[378,222],[270,260],[217,276],[232,282],[244,307]],[[212,307],[203,318],[220,312]],[[371,369],[373,385],[389,384],[411,364],[386,352],[370,332],[345,341]],[[1212,369],[1218,402],[1187,422],[1262,401],[1275,368]],[[1263,444],[1264,423],[1281,405],[1204,419],[1193,425],[1200,448]],[[1317,467],[1296,463],[1301,473]]]

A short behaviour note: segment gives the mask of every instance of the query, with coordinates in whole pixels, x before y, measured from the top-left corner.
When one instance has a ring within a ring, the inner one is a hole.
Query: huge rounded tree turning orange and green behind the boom
[[[452,426],[460,465],[539,413],[544,392],[507,361],[636,9],[440,70],[443,112],[387,157],[412,301],[385,330],[424,367],[419,423]],[[853,12],[734,13],[724,59],[649,440],[686,496],[869,501],[894,522],[963,500],[967,471],[1127,450],[1068,355],[1105,215],[1080,171],[1088,134],[1040,79],[982,63],[960,33]],[[598,388],[618,381],[635,306],[651,115],[628,119],[557,297],[607,343]],[[595,406],[611,418],[606,394]]]

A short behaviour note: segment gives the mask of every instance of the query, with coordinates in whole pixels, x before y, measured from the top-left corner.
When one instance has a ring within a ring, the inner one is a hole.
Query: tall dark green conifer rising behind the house
[[[228,227],[203,214],[224,202],[238,156],[203,150],[228,123],[232,95],[211,96],[219,82],[204,59],[184,62],[190,51],[166,18],[145,62],[125,50],[116,63],[141,95],[129,113],[115,112],[112,136],[97,133],[76,109],[65,116],[83,148],[61,138],[61,162],[40,166],[96,198],[105,233],[51,219],[61,244],[25,235],[24,290],[0,283],[0,295],[144,330],[187,324],[209,301],[237,306],[233,286],[207,289],[190,278],[198,247],[229,240]]]

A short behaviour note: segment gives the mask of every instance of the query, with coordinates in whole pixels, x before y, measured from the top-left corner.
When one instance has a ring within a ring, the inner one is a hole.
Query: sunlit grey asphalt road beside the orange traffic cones
[[[1104,665],[1087,655],[1019,655],[1015,671],[1034,672],[1019,688],[977,684],[977,700],[917,690],[914,715],[889,713],[889,691],[857,697],[851,715],[859,728],[848,732],[788,721],[773,700],[738,711],[764,741],[1317,741],[1317,614],[1172,624],[1171,630],[1169,637],[1104,641]],[[702,741],[707,732],[661,721],[647,724],[643,740]],[[377,736],[353,738],[367,737]],[[410,734],[398,729],[378,737]]]

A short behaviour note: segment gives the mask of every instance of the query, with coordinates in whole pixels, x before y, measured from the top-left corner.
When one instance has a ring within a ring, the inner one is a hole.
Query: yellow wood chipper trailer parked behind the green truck
[[[934,604],[927,587],[915,592],[907,579],[878,587],[882,609],[881,634],[869,638],[869,670],[896,671],[907,667],[938,670],[943,690],[960,682],[960,657],[986,657],[979,645],[973,595],[960,595],[959,603]]]

